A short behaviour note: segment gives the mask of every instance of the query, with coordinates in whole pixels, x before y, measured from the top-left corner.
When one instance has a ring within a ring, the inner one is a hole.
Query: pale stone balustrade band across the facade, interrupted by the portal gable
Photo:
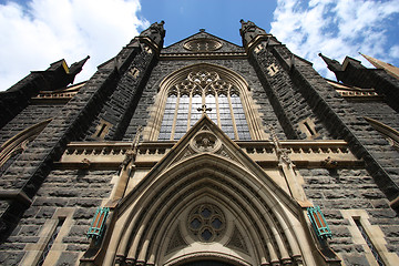
[[[176,144],[168,142],[142,142],[137,146],[135,165],[151,168]],[[238,141],[236,144],[264,168],[275,167],[279,160],[272,141]],[[362,166],[341,140],[329,141],[280,141],[297,167],[357,167]],[[73,142],[68,144],[61,160],[61,168],[119,168],[131,150],[130,142]]]

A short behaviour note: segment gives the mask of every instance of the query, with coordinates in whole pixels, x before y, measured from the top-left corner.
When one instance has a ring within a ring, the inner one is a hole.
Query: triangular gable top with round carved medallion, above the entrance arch
[[[185,175],[188,168],[195,172],[201,164],[204,168],[221,167],[231,174],[254,178],[250,182],[264,187],[265,192],[270,193],[270,198],[278,198],[277,201],[293,213],[298,212],[297,202],[267,176],[262,167],[250,160],[207,115],[197,121],[141,183],[122,200],[119,204],[120,212],[129,208],[129,205],[141,197],[144,191],[151,191],[152,186],[157,186],[156,183],[162,183],[165,176],[170,178],[172,175]]]

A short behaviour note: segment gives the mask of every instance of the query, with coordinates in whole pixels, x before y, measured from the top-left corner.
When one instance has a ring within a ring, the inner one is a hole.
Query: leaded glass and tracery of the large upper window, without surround
[[[216,71],[190,72],[167,90],[158,140],[178,140],[197,122],[206,105],[206,114],[231,139],[250,140],[238,88]]]

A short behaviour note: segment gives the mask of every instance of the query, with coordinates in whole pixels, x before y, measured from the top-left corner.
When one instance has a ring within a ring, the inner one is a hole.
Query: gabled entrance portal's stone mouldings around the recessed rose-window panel
[[[193,146],[196,136],[207,135],[204,132],[221,143],[196,141],[200,147]],[[113,232],[106,233],[111,241],[104,264],[172,265],[182,256],[165,257],[164,238],[185,207],[205,194],[228,207],[247,231],[250,256],[234,250],[225,254],[234,254],[244,265],[316,265],[317,248],[309,241],[299,204],[206,115],[116,206]],[[198,246],[192,254],[204,252],[206,247]]]

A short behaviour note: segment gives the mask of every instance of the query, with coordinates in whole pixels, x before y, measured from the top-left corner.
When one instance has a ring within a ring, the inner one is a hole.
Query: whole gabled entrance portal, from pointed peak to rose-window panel
[[[202,208],[207,208],[209,216],[197,212]],[[195,254],[260,265],[266,257],[287,257],[288,250],[294,259],[315,264],[307,248],[309,232],[301,224],[301,207],[206,115],[114,212],[117,229],[108,234],[119,244],[106,250],[105,264],[115,256],[174,265]],[[213,226],[211,217],[217,217],[226,229]],[[132,236],[136,236],[133,242]],[[239,243],[229,241],[233,237]]]

